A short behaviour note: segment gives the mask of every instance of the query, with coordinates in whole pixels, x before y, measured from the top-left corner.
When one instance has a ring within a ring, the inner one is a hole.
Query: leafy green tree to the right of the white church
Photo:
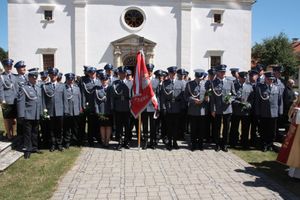
[[[265,66],[283,66],[285,77],[294,75],[297,71],[297,55],[293,52],[291,41],[284,33],[264,39],[261,44],[256,43],[252,47],[252,58]]]

